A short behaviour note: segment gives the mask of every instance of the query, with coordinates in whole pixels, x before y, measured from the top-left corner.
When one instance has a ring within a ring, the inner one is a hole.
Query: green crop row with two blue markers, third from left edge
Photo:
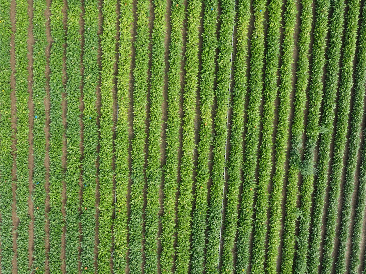
[[[45,272],[45,204],[46,204],[46,3],[43,0],[33,1],[33,209],[34,209],[34,273]]]

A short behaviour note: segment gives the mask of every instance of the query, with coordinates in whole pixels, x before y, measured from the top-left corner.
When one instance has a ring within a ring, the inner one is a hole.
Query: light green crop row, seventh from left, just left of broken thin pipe
[[[98,273],[111,273],[113,206],[113,91],[116,57],[117,1],[103,1],[103,33],[100,39],[102,71],[100,84],[100,160],[99,160],[99,244]]]

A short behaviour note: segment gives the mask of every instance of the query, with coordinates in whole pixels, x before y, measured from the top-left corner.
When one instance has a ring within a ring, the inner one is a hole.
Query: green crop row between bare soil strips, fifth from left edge
[[[81,77],[81,1],[67,1],[66,35],[66,272],[78,273],[79,265],[79,179],[80,161],[80,86]]]

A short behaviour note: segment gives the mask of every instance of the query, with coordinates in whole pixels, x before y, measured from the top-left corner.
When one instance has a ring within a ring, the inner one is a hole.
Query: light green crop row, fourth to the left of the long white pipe
[[[171,35],[169,44],[169,72],[167,91],[167,130],[166,130],[166,162],[164,166],[164,213],[161,219],[161,272],[173,271],[173,256],[175,254],[175,212],[176,191],[178,188],[178,149],[180,128],[180,94],[182,73],[183,20],[185,18],[184,1],[175,0],[171,3]],[[177,262],[178,263],[178,262]]]

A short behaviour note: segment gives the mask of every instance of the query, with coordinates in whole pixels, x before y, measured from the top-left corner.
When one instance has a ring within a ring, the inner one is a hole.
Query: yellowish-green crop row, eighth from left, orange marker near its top
[[[130,111],[130,73],[131,73],[131,29],[132,0],[120,5],[119,19],[119,60],[117,74],[118,115],[116,125],[115,156],[116,156],[116,201],[115,219],[113,222],[114,257],[113,272],[124,274],[127,267],[127,188],[130,170],[128,167],[128,148],[130,129],[128,118]]]

